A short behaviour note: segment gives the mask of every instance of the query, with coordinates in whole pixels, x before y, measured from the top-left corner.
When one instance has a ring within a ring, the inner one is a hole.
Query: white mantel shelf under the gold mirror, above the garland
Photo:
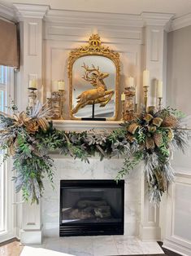
[[[115,130],[123,121],[54,120],[54,127],[66,131]]]

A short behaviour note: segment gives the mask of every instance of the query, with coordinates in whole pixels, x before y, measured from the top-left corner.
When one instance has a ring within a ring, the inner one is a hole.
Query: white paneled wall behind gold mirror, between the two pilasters
[[[88,21],[89,23],[92,22],[91,20]],[[84,24],[82,28],[76,28],[76,24],[70,24],[71,29],[66,28],[66,24],[63,23],[46,23],[44,84],[46,85],[46,90],[51,90],[51,84],[54,80],[63,79],[66,82],[65,119],[69,118],[67,58],[72,49],[88,42],[89,36],[92,33],[89,23]],[[102,25],[101,28],[98,27],[97,29],[102,44],[110,46],[111,49],[119,52],[121,65],[119,90],[122,91],[124,86],[127,86],[127,78],[129,76],[136,78],[136,85],[139,89],[141,83],[141,28],[116,30],[115,27],[107,29],[107,27],[104,28]]]

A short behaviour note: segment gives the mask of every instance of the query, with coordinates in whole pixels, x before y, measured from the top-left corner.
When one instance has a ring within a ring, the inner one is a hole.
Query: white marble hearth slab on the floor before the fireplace
[[[33,246],[75,256],[164,254],[157,242],[142,242],[133,236],[72,236],[45,238]]]

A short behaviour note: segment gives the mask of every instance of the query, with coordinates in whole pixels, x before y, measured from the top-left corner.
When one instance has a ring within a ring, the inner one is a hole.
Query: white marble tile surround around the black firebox
[[[123,166],[123,159],[99,161],[92,157],[89,164],[72,157],[54,157],[54,190],[45,180],[45,193],[41,204],[43,236],[59,236],[59,188],[61,179],[115,179]],[[125,178],[124,188],[124,234],[139,235],[141,218],[141,166],[133,170]]]

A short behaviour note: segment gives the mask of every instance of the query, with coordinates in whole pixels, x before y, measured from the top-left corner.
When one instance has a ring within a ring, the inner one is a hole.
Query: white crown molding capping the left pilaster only
[[[50,7],[46,5],[14,3],[13,6],[15,7],[19,20],[23,20],[24,18],[43,19],[50,10]]]

